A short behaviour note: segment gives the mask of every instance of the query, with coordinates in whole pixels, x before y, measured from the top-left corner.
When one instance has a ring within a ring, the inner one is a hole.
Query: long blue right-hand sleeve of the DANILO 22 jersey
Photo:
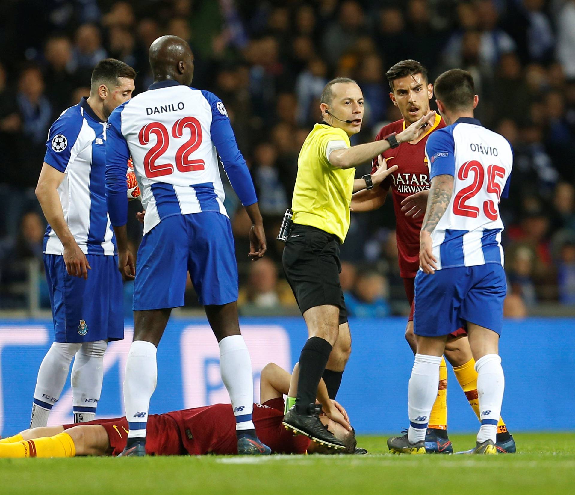
[[[256,203],[258,197],[255,194],[254,182],[252,181],[250,170],[246,165],[246,160],[237,148],[236,136],[233,134],[232,124],[228,118],[225,106],[215,94],[203,91],[202,94],[212,107],[212,127],[210,134],[212,142],[216,146],[218,155],[224,165],[225,173],[228,176],[233,190],[239,197],[241,204],[249,206]]]

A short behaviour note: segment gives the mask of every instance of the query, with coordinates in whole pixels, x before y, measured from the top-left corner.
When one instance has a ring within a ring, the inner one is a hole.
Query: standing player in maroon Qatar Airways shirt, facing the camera
[[[375,140],[385,139],[396,134],[430,111],[433,97],[433,85],[428,82],[427,69],[416,60],[402,60],[386,73],[391,92],[389,97],[403,117],[386,125],[379,131]],[[436,129],[445,127],[439,113],[435,123],[420,138],[393,147],[373,160],[373,167],[392,167],[398,169],[374,189],[355,193],[351,201],[354,212],[370,211],[384,204],[389,190],[392,191],[393,208],[396,214],[397,251],[399,255],[400,276],[403,279],[405,295],[411,305],[411,313],[405,331],[405,338],[416,352],[413,335],[413,295],[415,293],[415,275],[419,270],[419,232],[427,204],[427,191],[430,187],[429,167],[425,158],[425,143]],[[453,365],[453,371],[461,385],[467,400],[479,417],[477,401],[477,372],[471,355],[467,333],[459,329],[451,334],[447,341],[445,357]],[[453,452],[447,437],[447,368],[445,361],[439,372],[439,394],[430,416],[430,428],[425,437],[427,452]],[[515,452],[515,442],[509,435],[503,420],[499,420],[497,447],[502,452]]]

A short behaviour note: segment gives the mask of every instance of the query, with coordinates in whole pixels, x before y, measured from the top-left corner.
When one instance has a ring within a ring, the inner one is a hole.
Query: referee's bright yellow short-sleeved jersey
[[[340,169],[329,163],[332,151],[349,148],[346,132],[327,124],[316,124],[301,147],[293,192],[293,222],[335,234],[344,241],[350,228],[350,203],[355,169]]]

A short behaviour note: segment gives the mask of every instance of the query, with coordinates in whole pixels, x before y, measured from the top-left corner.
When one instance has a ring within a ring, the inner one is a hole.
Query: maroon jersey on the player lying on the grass
[[[190,455],[237,454],[236,420],[231,405],[184,409],[166,416],[177,422],[183,446]],[[252,418],[258,438],[274,454],[304,454],[308,450],[308,437],[293,436],[283,427],[282,398],[254,404]]]

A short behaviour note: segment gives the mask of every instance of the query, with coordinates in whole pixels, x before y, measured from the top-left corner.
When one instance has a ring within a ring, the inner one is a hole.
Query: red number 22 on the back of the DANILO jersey
[[[183,138],[189,131],[190,138],[178,148],[175,155],[176,168],[179,172],[194,172],[204,170],[204,160],[193,160],[190,155],[200,147],[202,143],[202,128],[200,121],[194,117],[183,117],[174,122],[171,136],[175,139]],[[140,129],[138,140],[140,144],[149,144],[152,134],[156,138],[156,143],[144,156],[144,171],[148,178],[168,176],[174,173],[173,163],[156,163],[170,145],[170,135],[166,126],[160,122],[150,122]]]

